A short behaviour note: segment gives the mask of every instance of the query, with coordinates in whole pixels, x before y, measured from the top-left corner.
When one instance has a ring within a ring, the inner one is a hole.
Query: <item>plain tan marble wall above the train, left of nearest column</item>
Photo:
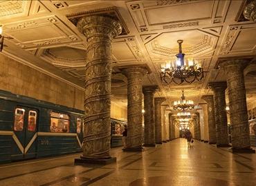
[[[84,91],[0,54],[0,90],[84,110]]]

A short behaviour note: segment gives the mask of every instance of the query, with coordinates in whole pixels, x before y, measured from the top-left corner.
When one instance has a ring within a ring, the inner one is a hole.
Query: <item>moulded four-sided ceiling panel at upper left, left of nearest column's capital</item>
[[[58,17],[48,16],[4,25],[5,34],[14,38],[15,45],[30,48],[82,41]]]

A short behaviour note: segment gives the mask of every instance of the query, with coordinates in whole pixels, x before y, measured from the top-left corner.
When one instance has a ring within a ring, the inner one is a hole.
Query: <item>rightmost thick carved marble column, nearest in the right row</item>
[[[255,153],[250,148],[244,68],[250,59],[223,59],[220,66],[228,82],[232,152]]]

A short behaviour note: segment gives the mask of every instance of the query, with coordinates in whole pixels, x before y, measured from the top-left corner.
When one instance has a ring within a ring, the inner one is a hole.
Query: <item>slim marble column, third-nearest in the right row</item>
[[[207,103],[209,144],[216,144],[216,124],[213,95],[204,95],[202,99]]]

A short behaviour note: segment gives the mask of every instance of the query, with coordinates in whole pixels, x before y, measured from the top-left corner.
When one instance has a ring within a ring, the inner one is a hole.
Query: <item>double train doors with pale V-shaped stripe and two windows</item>
[[[17,107],[13,123],[12,160],[35,158],[37,155],[37,110]]]

